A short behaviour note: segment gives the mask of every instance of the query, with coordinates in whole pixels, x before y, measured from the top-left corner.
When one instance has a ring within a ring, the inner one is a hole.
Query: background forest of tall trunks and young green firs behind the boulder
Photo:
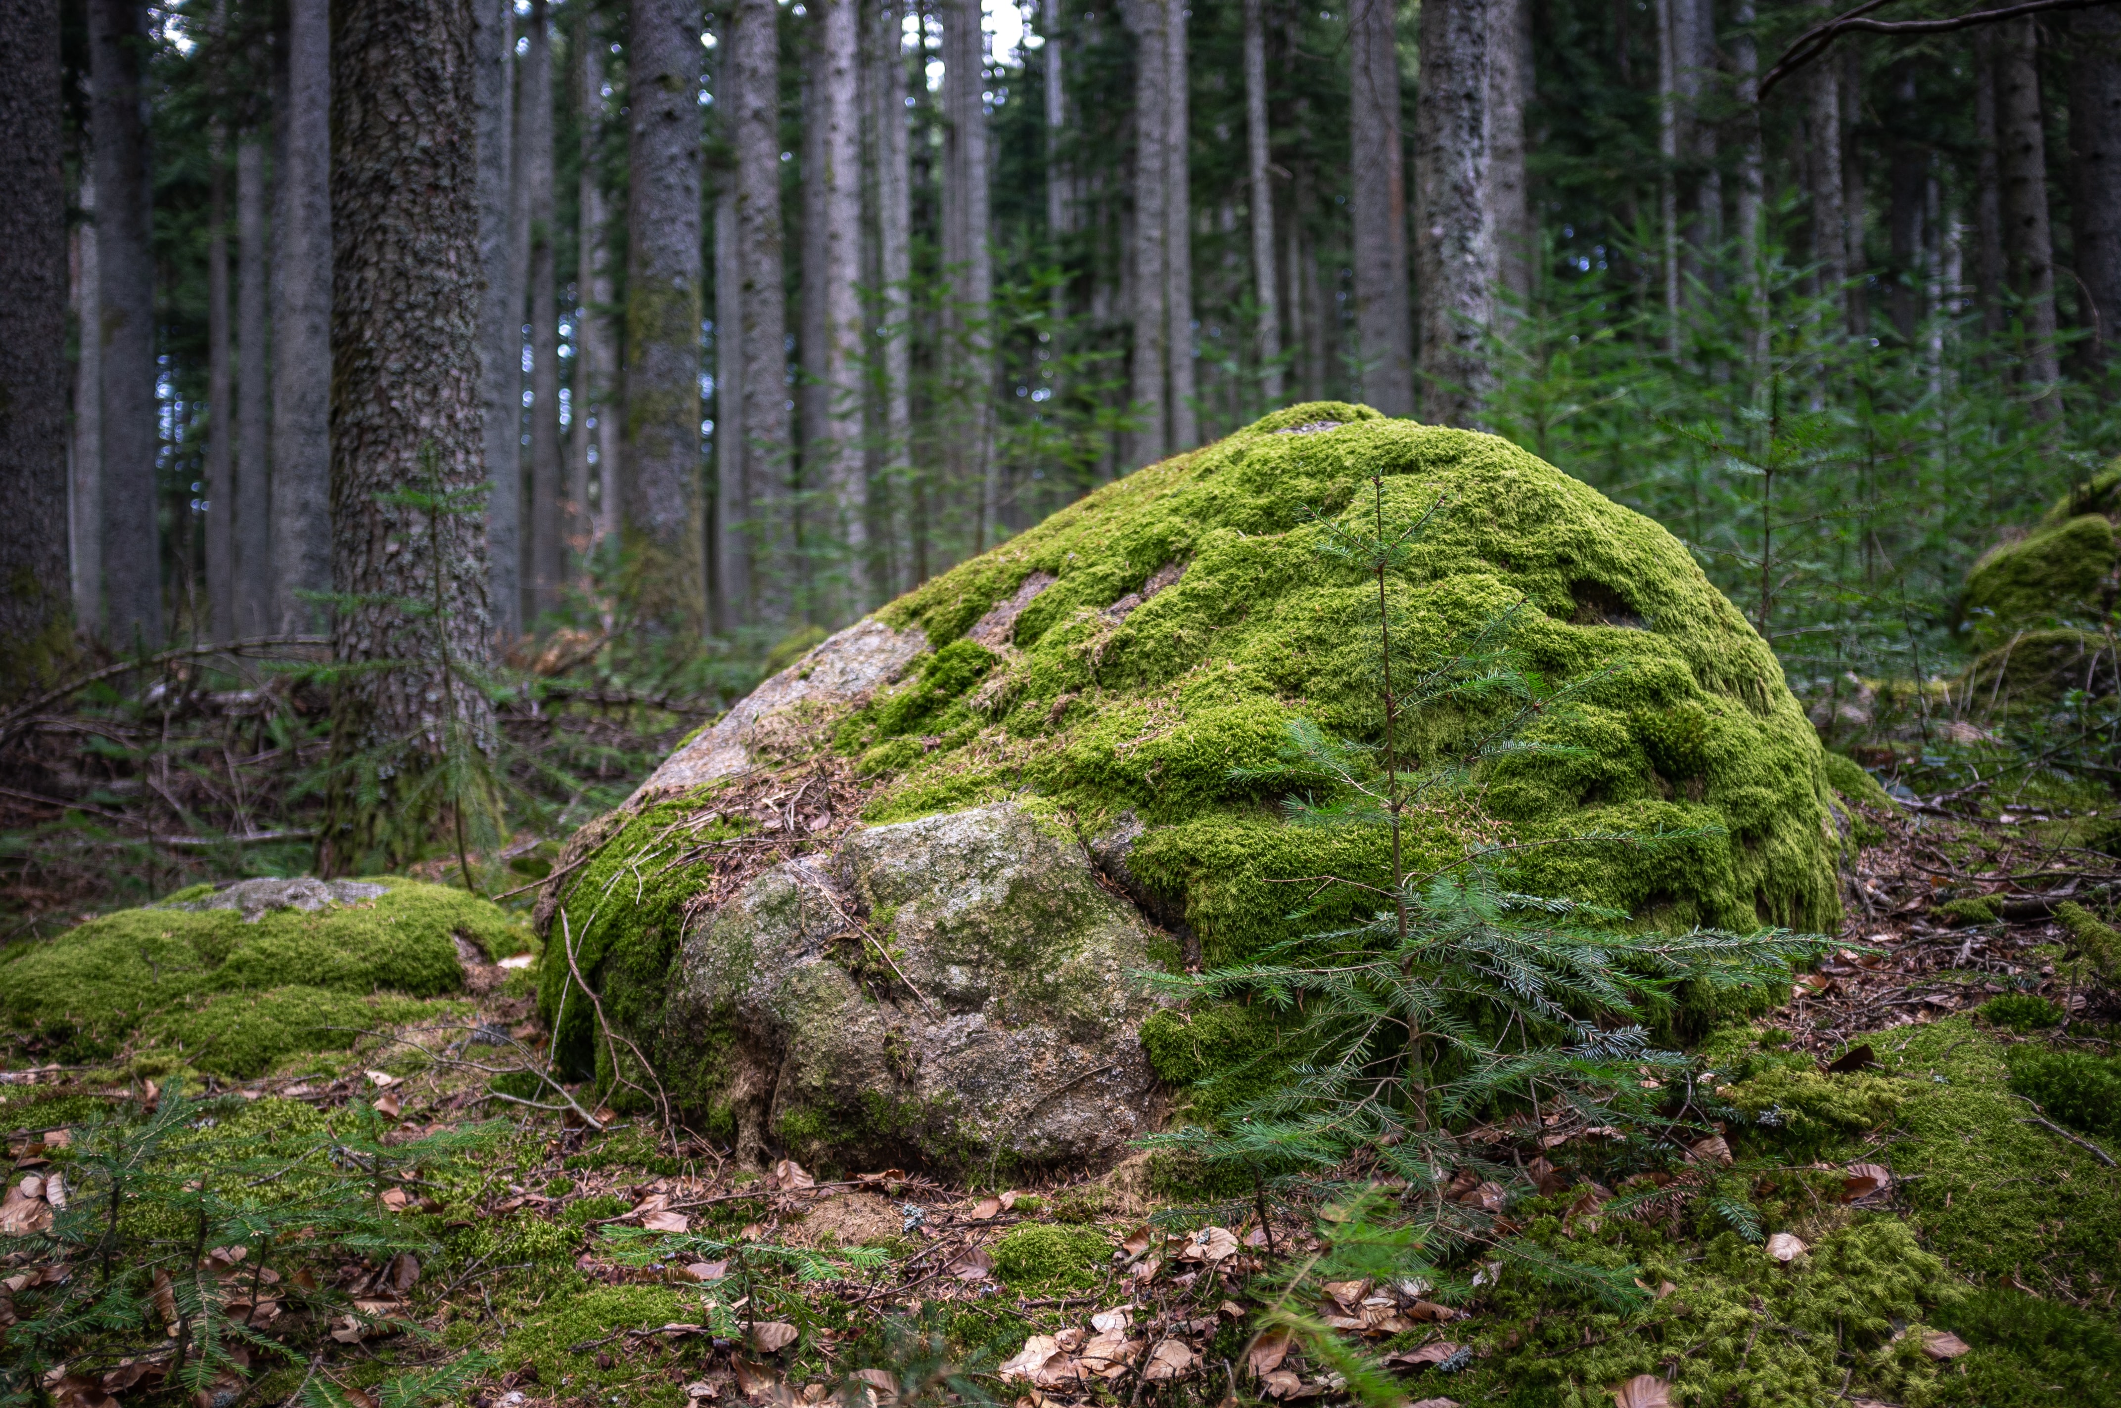
[[[151,848],[403,861],[392,797],[496,842],[1097,483],[1349,399],[1654,515],[1864,725],[2121,439],[2121,15],[1871,8],[11,6],[53,180],[0,250],[51,295],[8,674],[78,628],[246,700],[197,706],[214,797],[140,789]],[[134,693],[74,795],[140,787]],[[257,757],[335,821],[259,821]]]

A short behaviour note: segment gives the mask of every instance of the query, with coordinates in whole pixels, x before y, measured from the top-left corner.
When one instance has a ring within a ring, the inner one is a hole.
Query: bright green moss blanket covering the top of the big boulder
[[[1277,435],[1317,420],[1343,424]],[[884,606],[884,621],[921,626],[937,653],[840,729],[842,751],[882,782],[870,816],[1020,789],[1090,831],[1135,810],[1152,831],[1128,865],[1184,897],[1209,963],[1283,937],[1290,897],[1270,878],[1374,880],[1379,838],[1294,831],[1230,778],[1270,761],[1296,715],[1379,736],[1372,587],[1317,556],[1309,522],[1362,513],[1355,490],[1372,473],[1387,479],[1387,530],[1444,498],[1393,583],[1421,645],[1440,649],[1525,600],[1519,645],[1533,668],[1599,676],[1582,710],[1540,732],[1580,757],[1489,776],[1508,831],[1699,831],[1640,852],[1536,850],[1521,884],[1650,925],[1839,920],[1818,740],[1773,653],[1686,549],[1508,441],[1340,403],[1268,416],[1128,475]],[[1186,568],[1175,585],[1124,619],[1107,613],[1169,564]],[[1014,645],[963,643],[1031,573],[1054,583],[1024,606]],[[982,659],[959,659],[971,653]],[[912,732],[918,746],[906,746]],[[1417,833],[1415,865],[1459,844],[1451,827]]]

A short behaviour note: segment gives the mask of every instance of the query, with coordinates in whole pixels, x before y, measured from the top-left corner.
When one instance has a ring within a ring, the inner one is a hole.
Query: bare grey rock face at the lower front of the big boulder
[[[1073,838],[984,806],[753,880],[687,933],[662,1050],[747,1160],[1111,1162],[1164,1113],[1133,973],[1175,956]]]

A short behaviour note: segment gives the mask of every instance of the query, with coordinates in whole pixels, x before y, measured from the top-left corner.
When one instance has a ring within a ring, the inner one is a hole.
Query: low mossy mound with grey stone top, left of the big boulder
[[[303,895],[316,908],[235,899],[257,893],[180,891],[13,950],[0,967],[6,1037],[66,1064],[163,1048],[250,1077],[428,1011],[420,999],[464,986],[460,944],[486,958],[528,946],[498,908],[439,884],[337,882]]]

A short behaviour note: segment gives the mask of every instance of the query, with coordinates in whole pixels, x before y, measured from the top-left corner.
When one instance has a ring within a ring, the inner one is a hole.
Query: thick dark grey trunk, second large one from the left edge
[[[155,526],[155,242],[146,165],[148,53],[140,0],[89,0],[95,140],[95,263],[102,331],[104,630],[117,649],[161,645],[161,534]]]

